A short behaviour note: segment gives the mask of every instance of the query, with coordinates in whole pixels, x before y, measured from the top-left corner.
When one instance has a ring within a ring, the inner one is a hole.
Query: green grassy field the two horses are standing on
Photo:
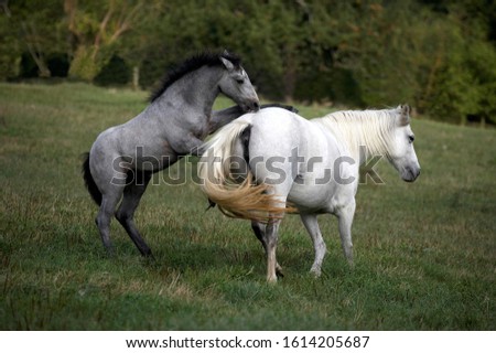
[[[314,279],[310,238],[289,216],[285,277],[269,286],[249,223],[205,213],[193,183],[143,197],[137,223],[155,261],[117,222],[106,256],[79,156],[145,96],[0,84],[0,330],[496,330],[495,130],[416,120],[422,175],[408,184],[381,163],[386,184],[360,186],[355,268],[321,216],[328,254]]]

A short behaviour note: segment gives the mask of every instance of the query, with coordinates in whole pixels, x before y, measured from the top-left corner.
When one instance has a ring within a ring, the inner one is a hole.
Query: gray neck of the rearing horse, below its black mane
[[[159,109],[194,109],[209,116],[215,98],[220,93],[218,83],[223,75],[222,67],[202,66],[175,82],[151,105]]]

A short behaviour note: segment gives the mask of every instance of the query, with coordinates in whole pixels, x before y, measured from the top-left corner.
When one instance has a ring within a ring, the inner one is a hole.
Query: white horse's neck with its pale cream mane
[[[346,110],[312,121],[330,130],[362,164],[367,158],[388,154],[395,115],[395,109]]]

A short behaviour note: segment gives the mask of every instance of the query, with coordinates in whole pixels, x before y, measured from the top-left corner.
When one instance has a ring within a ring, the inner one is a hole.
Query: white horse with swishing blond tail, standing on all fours
[[[420,174],[413,139],[408,105],[337,111],[312,120],[268,108],[219,130],[204,146],[198,175],[203,191],[225,214],[251,220],[266,250],[268,281],[281,275],[276,247],[288,207],[298,211],[312,238],[311,272],[320,276],[326,246],[317,215],[337,216],[343,252],[353,266],[359,165],[367,156],[384,156],[405,181],[412,182]]]

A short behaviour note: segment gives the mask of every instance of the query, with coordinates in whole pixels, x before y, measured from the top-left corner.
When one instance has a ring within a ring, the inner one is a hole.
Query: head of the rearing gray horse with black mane
[[[224,74],[219,82],[220,92],[231,98],[244,111],[258,111],[260,101],[250,78],[239,63],[233,63],[229,55],[220,55]]]

